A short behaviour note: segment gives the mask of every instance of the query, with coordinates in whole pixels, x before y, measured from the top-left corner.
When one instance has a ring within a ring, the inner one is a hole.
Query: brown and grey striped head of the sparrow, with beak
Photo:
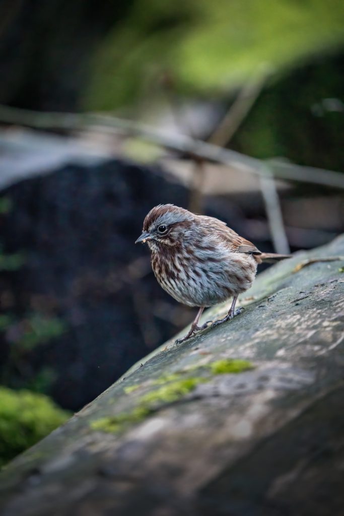
[[[173,204],[159,204],[146,215],[142,234],[135,244],[147,241],[151,250],[157,250],[161,246],[176,246],[188,240],[194,218],[195,215],[187,209]]]

